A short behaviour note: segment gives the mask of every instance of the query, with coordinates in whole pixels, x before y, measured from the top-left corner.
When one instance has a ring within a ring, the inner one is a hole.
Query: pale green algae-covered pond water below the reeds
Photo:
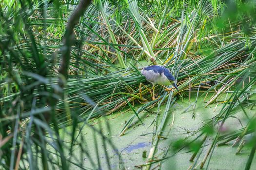
[[[173,144],[179,139],[186,138],[192,140],[197,137],[197,132],[206,120],[217,115],[223,107],[222,103],[218,103],[205,108],[207,99],[205,99],[206,102],[204,102],[204,97],[205,96],[199,97],[195,110],[192,109],[193,107],[188,110],[186,109],[195,101],[196,94],[192,94],[191,101],[189,101],[188,98],[180,98],[175,102],[167,116],[167,122],[159,138],[154,156],[155,160],[168,158],[152,164],[151,169],[187,170],[193,164],[193,162],[189,161],[193,152],[190,152],[188,148],[177,152],[173,149]],[[140,106],[141,105],[135,106],[135,110]],[[108,169],[107,160],[109,161],[110,169],[113,170],[122,169],[122,167],[125,167],[127,170],[140,169],[141,165],[146,163],[153,142],[153,134],[156,126],[155,123],[152,124],[152,122],[156,117],[156,109],[157,106],[139,113],[144,125],[142,125],[137,118],[134,119],[130,128],[123,136],[119,136],[120,131],[126,121],[134,114],[129,108],[92,120],[90,125],[95,129],[102,129],[102,134],[107,136],[107,139],[102,139],[101,135],[96,133],[92,127],[86,126],[82,129],[81,135],[86,141],[84,146],[87,148],[86,151],[91,156],[91,159],[94,160],[96,164],[100,163],[102,170]],[[160,107],[161,112],[157,118],[157,125],[160,124],[163,116],[162,111],[164,109],[165,105]],[[229,118],[225,123],[224,127],[226,132],[240,129],[242,126],[246,125],[246,119],[244,119],[245,117],[242,110],[237,111],[236,117]],[[248,115],[255,113],[255,109],[248,109],[246,111]],[[62,135],[64,140],[70,141],[68,137],[65,137],[64,134]],[[95,139],[93,137],[94,135]],[[111,144],[108,140],[111,141]],[[210,137],[207,139],[203,152],[198,158],[198,163],[204,158],[211,142],[212,138]],[[241,152],[236,155],[237,147],[231,146],[233,142],[234,141],[231,141],[229,143],[230,145],[215,147],[208,165],[209,170],[241,170],[245,168],[250,149],[244,147]],[[73,153],[77,154],[79,157],[80,152],[82,152],[80,147],[74,146]],[[197,157],[194,160],[196,159]],[[93,165],[87,157],[83,157],[83,161],[84,165],[86,165],[85,167],[91,167],[93,169]],[[206,161],[204,168],[206,168],[207,163],[208,161]],[[75,165],[72,165],[72,167],[75,168]],[[199,169],[199,166],[197,166],[196,169]],[[256,170],[256,157],[254,157],[251,170]]]

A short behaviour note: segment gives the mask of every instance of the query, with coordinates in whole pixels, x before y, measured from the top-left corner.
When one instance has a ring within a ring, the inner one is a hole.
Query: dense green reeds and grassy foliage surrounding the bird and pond
[[[255,115],[246,112],[256,104],[250,99],[256,82],[254,1],[94,0],[75,26],[65,80],[58,73],[65,50],[62,41],[77,5],[76,0],[3,0],[0,4],[0,169],[91,168],[83,165],[83,157],[93,169],[99,169],[99,155],[92,159],[81,129],[90,125],[92,118],[128,106],[134,115],[120,130],[124,135],[134,119],[143,123],[140,112],[158,104],[148,157],[154,163],[155,148],[176,96],[190,96],[191,90],[197,91],[197,97],[201,91],[203,96],[212,92],[205,106],[220,103],[219,98],[227,91],[232,93],[198,137],[173,145],[178,151],[187,147],[197,155],[211,138],[212,153],[217,144],[236,138],[234,143],[240,144],[246,134],[255,133]],[[140,67],[156,62],[170,68],[180,93],[167,93],[156,86],[160,97],[150,101],[151,85],[140,75]],[[63,89],[59,80],[64,82]],[[141,89],[140,83],[145,84]],[[133,104],[140,102],[143,104],[135,110]],[[157,121],[159,108],[165,103],[163,119]],[[191,103],[188,109],[196,104]],[[221,126],[236,116],[238,108],[248,119],[247,126],[222,134]],[[107,147],[115,150],[102,129],[90,128],[102,136],[106,155]],[[71,142],[65,143],[62,134]],[[98,151],[97,140],[92,138]],[[247,169],[254,156],[254,143],[255,136],[248,144],[251,154]],[[75,145],[84,151],[80,157],[73,153]],[[211,156],[207,158],[202,166],[206,160],[210,162]],[[145,166],[149,168],[150,164]]]

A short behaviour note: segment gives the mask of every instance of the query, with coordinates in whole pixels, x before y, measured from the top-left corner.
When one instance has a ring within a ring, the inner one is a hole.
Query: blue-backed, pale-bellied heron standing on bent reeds
[[[177,91],[178,87],[175,84],[175,78],[170,73],[170,71],[164,67],[159,65],[147,66],[141,69],[141,74],[145,76],[146,80],[152,83],[153,85],[153,100],[155,99],[155,85],[173,85]],[[166,88],[166,87],[165,87]],[[168,89],[168,88],[166,88]],[[170,90],[170,89],[168,89]]]

